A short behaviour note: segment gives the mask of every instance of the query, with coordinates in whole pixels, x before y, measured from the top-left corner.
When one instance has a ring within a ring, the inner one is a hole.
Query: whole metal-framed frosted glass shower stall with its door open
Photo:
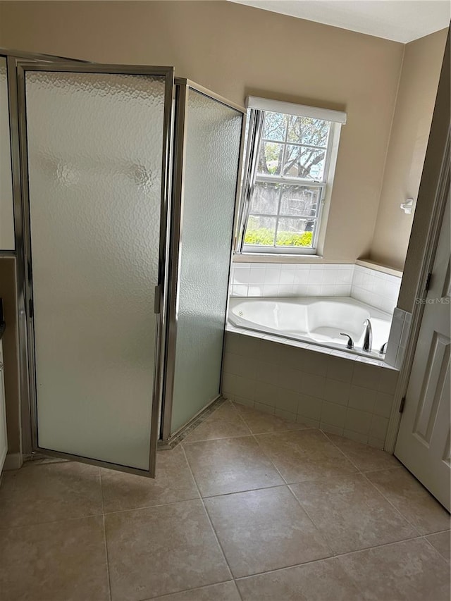
[[[221,395],[244,110],[172,67],[0,54],[24,452],[154,476]]]

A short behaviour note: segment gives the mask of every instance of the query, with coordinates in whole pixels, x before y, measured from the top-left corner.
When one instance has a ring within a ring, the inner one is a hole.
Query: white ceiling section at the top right
[[[450,0],[230,0],[395,42],[450,25]]]

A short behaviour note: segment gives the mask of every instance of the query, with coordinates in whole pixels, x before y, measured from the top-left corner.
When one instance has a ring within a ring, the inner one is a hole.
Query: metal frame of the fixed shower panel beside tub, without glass
[[[237,186],[235,190],[235,204],[233,208],[233,230],[230,241],[230,263],[233,255],[233,240],[237,226],[238,204],[240,202],[240,183],[242,172],[242,156],[243,145],[245,138],[246,124],[246,109],[230,100],[211,92],[211,90],[199,85],[186,78],[175,78],[174,80],[174,153],[173,153],[173,185],[172,185],[172,222],[171,233],[169,237],[169,255],[171,256],[171,265],[168,271],[168,303],[167,303],[167,329],[166,329],[166,354],[165,354],[165,378],[163,385],[163,397],[161,407],[161,430],[160,438],[167,441],[172,438],[177,432],[171,432],[172,409],[173,409],[173,390],[175,380],[175,352],[177,347],[177,326],[178,326],[178,285],[180,282],[180,251],[182,248],[182,233],[183,233],[183,205],[185,195],[185,149],[187,136],[187,120],[189,118],[187,111],[188,91],[199,92],[212,100],[233,109],[238,113],[242,113],[242,129],[240,139],[240,156],[237,162]],[[230,263],[228,271],[228,282],[230,282]],[[224,317],[224,330],[226,329],[228,313],[228,297],[226,301],[226,314]],[[209,400],[211,404],[216,399],[221,397],[222,390],[222,368],[221,381],[219,392],[216,397]],[[208,406],[207,404],[207,406]],[[200,412],[202,412],[203,409]],[[199,414],[192,416],[189,423],[193,421]],[[185,425],[186,426],[186,425]],[[185,428],[183,426],[183,428]],[[180,428],[179,428],[180,430]]]

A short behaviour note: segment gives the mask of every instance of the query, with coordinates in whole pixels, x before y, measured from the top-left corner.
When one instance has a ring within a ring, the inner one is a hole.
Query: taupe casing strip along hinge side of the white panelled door
[[[426,240],[428,240],[428,244],[426,244],[426,246],[424,247],[423,257],[421,261],[421,270],[419,272],[418,284],[416,286],[416,299],[426,299],[427,295],[428,275],[429,273],[431,273],[433,268],[435,252],[437,251],[438,238],[440,236],[440,229],[443,221],[443,213],[445,211],[447,197],[450,190],[450,161],[451,125],[448,125],[445,149],[443,151],[443,157],[440,166],[440,174],[435,185],[431,221],[429,223],[428,233],[426,237]],[[410,373],[412,371],[414,355],[416,352],[416,343],[418,342],[421,321],[423,318],[425,306],[426,305],[421,302],[414,303],[412,311],[412,321],[409,331],[409,337],[407,339],[404,359],[402,361],[402,366],[400,369],[400,377],[398,378],[395,390],[393,408],[390,414],[390,421],[388,423],[387,438],[385,439],[385,450],[392,454],[395,452],[397,433],[400,429],[400,423],[402,419],[402,413],[400,412],[401,403],[409,385]]]

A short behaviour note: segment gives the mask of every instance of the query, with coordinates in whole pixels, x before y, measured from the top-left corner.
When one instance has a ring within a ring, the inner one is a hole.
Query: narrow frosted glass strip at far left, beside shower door
[[[13,250],[14,211],[6,57],[0,56],[0,250]]]

